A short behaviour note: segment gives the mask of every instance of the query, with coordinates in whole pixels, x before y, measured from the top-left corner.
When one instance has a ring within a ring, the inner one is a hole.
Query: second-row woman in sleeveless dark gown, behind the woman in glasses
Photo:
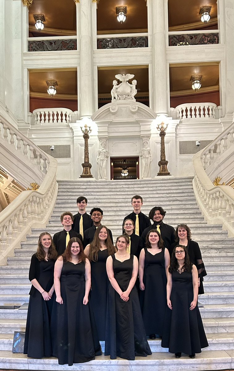
[[[162,336],[167,307],[167,272],[170,264],[168,249],[160,233],[152,229],[146,236],[139,259],[140,303],[146,335]]]

